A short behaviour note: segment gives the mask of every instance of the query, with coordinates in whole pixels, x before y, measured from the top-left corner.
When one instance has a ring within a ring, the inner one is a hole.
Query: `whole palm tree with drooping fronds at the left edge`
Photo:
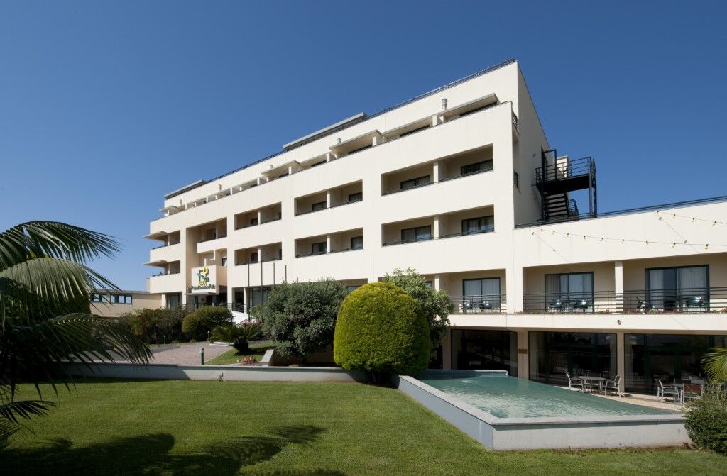
[[[86,263],[119,250],[113,238],[60,222],[26,222],[0,233],[0,445],[33,416],[48,414],[39,383],[70,390],[63,362],[114,355],[144,364],[149,348],[132,331],[91,315],[95,289],[118,289]],[[22,379],[36,385],[37,400],[17,400]]]

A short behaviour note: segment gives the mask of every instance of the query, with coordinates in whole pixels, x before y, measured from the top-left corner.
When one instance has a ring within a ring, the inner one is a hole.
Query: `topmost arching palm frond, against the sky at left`
[[[115,238],[62,222],[32,221],[0,233],[0,270],[28,257],[55,257],[76,262],[112,257],[119,251]]]

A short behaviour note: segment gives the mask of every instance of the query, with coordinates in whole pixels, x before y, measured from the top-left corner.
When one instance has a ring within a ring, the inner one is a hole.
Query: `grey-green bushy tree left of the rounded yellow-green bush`
[[[336,315],[345,287],[326,278],[309,283],[283,283],[268,294],[268,300],[252,310],[262,321],[276,352],[302,358],[326,350],[333,342]]]

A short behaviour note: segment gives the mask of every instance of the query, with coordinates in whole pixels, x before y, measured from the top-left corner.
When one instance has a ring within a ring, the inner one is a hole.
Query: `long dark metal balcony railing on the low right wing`
[[[727,288],[524,294],[523,307],[534,314],[727,312]]]

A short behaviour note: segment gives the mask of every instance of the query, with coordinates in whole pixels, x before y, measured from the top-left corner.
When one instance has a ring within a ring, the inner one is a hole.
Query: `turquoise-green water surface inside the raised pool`
[[[417,376],[417,379],[497,418],[674,413],[574,392],[505,374],[457,371],[451,374],[425,373]]]

